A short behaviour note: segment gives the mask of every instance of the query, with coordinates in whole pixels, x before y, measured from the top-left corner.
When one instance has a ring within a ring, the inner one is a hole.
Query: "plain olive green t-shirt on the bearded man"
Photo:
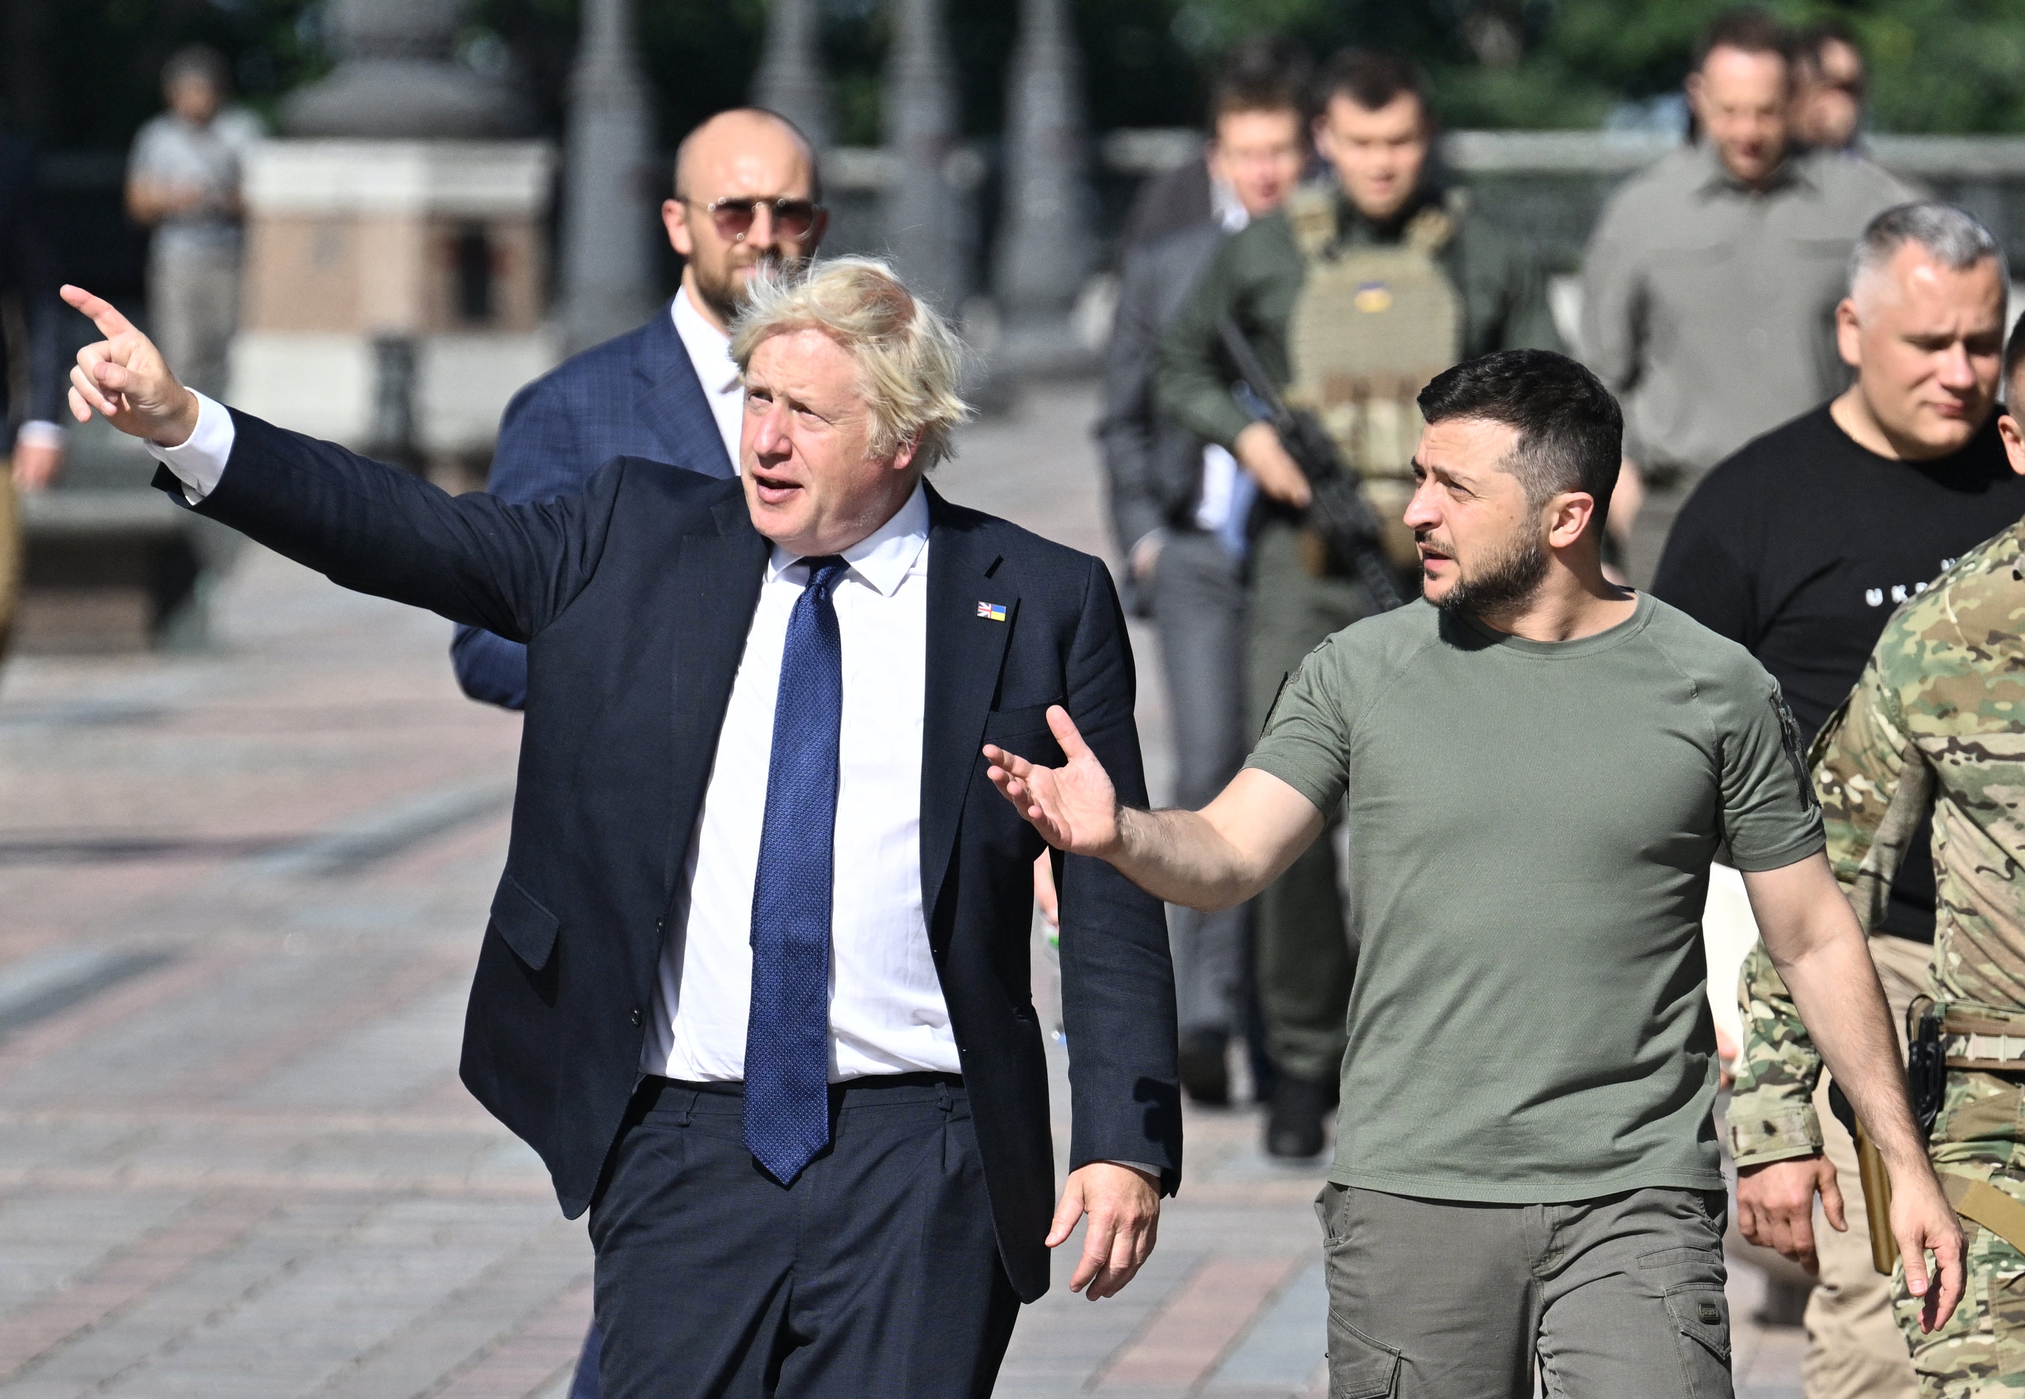
[[[1339,1184],[1717,1190],[1701,909],[1822,848],[1778,684],[1650,595],[1575,642],[1426,601],[1336,632],[1247,767],[1345,802],[1361,952]]]

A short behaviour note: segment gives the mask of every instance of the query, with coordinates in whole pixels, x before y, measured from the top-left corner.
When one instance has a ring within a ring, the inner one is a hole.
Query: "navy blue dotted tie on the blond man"
[[[834,555],[804,563],[774,703],[745,1022],[745,1146],[782,1184],[830,1144],[830,850],[844,711],[830,591],[848,565]]]

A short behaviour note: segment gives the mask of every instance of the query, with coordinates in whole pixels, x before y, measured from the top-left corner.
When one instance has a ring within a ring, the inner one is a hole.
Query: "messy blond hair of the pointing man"
[[[970,417],[958,395],[966,346],[936,308],[875,257],[832,257],[802,271],[753,277],[731,322],[731,358],[743,375],[772,336],[820,330],[859,364],[871,415],[871,451],[909,441],[921,470],[950,456],[950,431]]]

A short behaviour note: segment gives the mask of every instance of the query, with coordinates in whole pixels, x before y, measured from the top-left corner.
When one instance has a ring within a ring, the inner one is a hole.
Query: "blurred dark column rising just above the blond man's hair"
[[[885,73],[885,241],[907,285],[956,314],[970,292],[964,200],[950,180],[962,132],[942,0],[895,0]]]

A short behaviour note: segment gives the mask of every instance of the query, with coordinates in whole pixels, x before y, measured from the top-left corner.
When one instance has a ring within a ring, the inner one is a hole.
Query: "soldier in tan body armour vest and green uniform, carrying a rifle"
[[[1298,190],[1217,251],[1160,346],[1162,407],[1227,447],[1258,482],[1249,581],[1249,709],[1256,729],[1284,676],[1365,615],[1363,589],[1306,528],[1308,482],[1270,423],[1233,395],[1217,338],[1229,316],[1363,472],[1387,553],[1415,567],[1401,524],[1420,439],[1413,397],[1434,375],[1501,348],[1559,348],[1533,259],[1428,176],[1434,119],[1407,59],[1345,51],[1324,71],[1316,146],[1334,178]],[[1413,589],[1407,589],[1409,593]],[[1334,842],[1316,840],[1262,897],[1260,998],[1280,1069],[1266,1146],[1322,1150],[1345,1051],[1355,952]]]

